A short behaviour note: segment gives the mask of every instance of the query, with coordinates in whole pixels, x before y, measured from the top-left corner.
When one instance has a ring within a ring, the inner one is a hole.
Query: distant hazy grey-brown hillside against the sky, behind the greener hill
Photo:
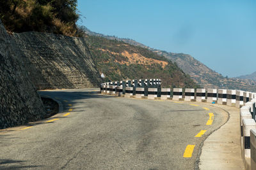
[[[117,38],[116,36],[105,36],[104,34],[99,34],[92,32],[86,27],[83,27],[86,34],[99,36],[102,38],[115,39],[116,41],[123,41],[134,46],[140,46],[141,48],[146,48],[157,55],[163,56],[168,60],[176,63],[184,71],[184,73],[189,74],[191,79],[198,83],[204,88],[219,88],[219,89],[239,89],[256,92],[256,81],[253,80],[241,80],[239,78],[226,78],[220,73],[212,71],[209,67],[205,66],[202,62],[196,60],[194,57],[184,53],[172,53],[163,50],[156,50],[150,48],[141,43],[138,43],[132,39],[127,38]]]

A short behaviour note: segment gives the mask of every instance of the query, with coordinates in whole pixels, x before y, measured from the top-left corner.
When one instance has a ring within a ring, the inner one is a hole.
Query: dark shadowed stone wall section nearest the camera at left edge
[[[44,118],[45,110],[0,20],[0,129]]]

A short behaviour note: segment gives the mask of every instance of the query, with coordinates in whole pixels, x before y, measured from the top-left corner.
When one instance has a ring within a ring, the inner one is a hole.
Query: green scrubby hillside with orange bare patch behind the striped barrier
[[[85,39],[105,81],[161,78],[163,87],[198,87],[176,64],[150,50],[100,36]]]

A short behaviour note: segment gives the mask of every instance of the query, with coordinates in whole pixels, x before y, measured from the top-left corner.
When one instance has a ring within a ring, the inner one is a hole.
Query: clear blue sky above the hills
[[[256,71],[256,1],[78,0],[94,32],[188,53],[223,76]],[[84,18],[86,17],[86,18]]]

